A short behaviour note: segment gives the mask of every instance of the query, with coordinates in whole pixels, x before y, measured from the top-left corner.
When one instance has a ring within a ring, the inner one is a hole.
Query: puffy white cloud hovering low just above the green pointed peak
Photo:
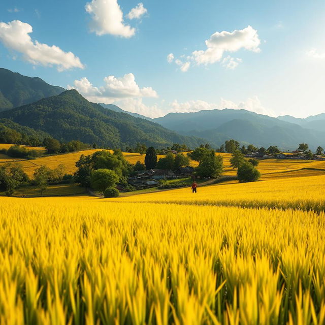
[[[132,73],[116,78],[108,76],[104,78],[104,85],[93,86],[87,78],[75,80],[74,85],[68,85],[68,89],[78,90],[85,98],[95,103],[111,104],[114,101],[126,98],[158,97],[157,92],[152,87],[140,88]]]

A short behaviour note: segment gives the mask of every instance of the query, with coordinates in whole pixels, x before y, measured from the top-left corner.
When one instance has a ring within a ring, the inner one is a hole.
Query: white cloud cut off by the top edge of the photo
[[[111,34],[125,38],[135,35],[135,28],[124,24],[123,12],[117,0],[92,0],[85,9],[92,18],[90,30],[96,35]]]

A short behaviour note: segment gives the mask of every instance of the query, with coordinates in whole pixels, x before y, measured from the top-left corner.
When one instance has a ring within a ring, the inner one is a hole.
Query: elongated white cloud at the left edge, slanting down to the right
[[[64,52],[58,46],[32,41],[29,34],[32,27],[20,20],[8,24],[0,22],[0,41],[10,50],[23,54],[24,59],[32,64],[57,66],[58,71],[72,68],[83,69],[79,57],[72,52]]]

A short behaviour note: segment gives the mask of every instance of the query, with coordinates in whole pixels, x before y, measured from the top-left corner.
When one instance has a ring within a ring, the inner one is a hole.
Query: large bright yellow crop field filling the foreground
[[[323,212],[140,197],[2,198],[0,323],[323,324]]]

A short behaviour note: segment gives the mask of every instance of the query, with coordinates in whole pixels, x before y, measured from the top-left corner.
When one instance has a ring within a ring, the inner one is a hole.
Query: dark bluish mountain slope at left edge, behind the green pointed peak
[[[0,68],[0,111],[58,95],[62,91],[64,88],[51,86],[41,78],[26,77]]]

